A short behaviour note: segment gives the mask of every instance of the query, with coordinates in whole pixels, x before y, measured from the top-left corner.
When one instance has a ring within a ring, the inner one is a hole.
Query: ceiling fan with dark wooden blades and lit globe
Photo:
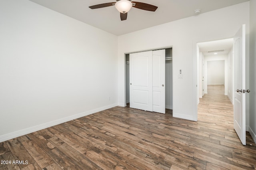
[[[146,4],[143,2],[134,2],[132,0],[116,0],[116,2],[109,2],[104,4],[98,4],[89,6],[91,9],[97,9],[97,8],[104,8],[108,6],[115,6],[116,9],[120,12],[120,18],[121,21],[127,19],[127,12],[132,8],[138,8],[141,10],[147,10],[147,11],[156,11],[158,8],[157,6]]]

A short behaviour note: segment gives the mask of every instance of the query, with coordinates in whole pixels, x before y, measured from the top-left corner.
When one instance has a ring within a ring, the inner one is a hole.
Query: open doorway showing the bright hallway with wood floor
[[[198,120],[233,121],[233,38],[198,43]]]

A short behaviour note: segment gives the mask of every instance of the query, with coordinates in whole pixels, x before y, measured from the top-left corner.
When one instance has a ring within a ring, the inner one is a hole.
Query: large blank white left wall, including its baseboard
[[[28,0],[0,30],[0,142],[117,105],[117,36]]]

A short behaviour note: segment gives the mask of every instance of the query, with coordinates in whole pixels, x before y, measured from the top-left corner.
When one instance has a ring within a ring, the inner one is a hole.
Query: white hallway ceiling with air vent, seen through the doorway
[[[215,52],[208,51],[216,51],[220,49],[224,49],[222,52],[216,52],[216,55],[227,55],[233,46],[233,38],[225,39],[225,40],[216,40],[211,42],[202,42],[197,43],[199,47],[199,51],[204,54],[204,56],[215,55]]]

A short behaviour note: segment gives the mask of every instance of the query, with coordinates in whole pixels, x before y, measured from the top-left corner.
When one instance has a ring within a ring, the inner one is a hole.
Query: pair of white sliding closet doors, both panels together
[[[165,49],[130,54],[130,107],[165,113]]]

